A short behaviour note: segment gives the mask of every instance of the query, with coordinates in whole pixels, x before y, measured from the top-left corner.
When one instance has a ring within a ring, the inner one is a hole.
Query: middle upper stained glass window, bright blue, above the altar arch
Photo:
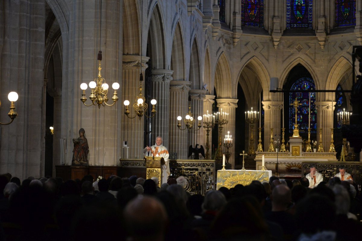
[[[287,0],[287,29],[312,29],[313,0]]]

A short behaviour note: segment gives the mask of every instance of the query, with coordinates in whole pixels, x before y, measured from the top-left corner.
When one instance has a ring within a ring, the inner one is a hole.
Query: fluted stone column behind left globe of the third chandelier
[[[188,111],[189,90],[189,81],[170,81],[169,144],[167,148],[168,152],[177,153],[177,159],[187,159],[188,154],[188,131],[178,129],[177,117],[185,118]],[[181,128],[185,128],[183,121],[181,121]]]

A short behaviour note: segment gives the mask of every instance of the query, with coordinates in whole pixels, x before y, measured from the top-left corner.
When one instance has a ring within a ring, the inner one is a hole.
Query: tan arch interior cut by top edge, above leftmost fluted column
[[[139,6],[137,1],[123,1],[123,54],[141,55]]]

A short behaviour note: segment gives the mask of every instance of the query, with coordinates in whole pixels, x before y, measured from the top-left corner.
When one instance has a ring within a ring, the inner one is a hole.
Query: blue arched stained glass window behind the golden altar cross
[[[298,79],[291,87],[290,90],[312,90],[315,89],[314,81],[311,78],[303,77]],[[315,108],[315,92],[310,92],[311,96],[311,132],[316,132],[316,114]],[[290,92],[289,93],[289,132],[292,133],[295,123],[295,109],[292,105],[295,98],[302,104],[298,108],[297,123],[299,124],[299,130],[308,131],[308,117],[309,117],[309,93],[308,92]]]

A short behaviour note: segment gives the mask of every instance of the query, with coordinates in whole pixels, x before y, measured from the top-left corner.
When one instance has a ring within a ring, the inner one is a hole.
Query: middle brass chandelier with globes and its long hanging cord
[[[134,117],[130,117],[130,110],[129,110],[129,105],[130,105],[130,101],[129,100],[125,100],[123,101],[123,104],[125,105],[125,115],[130,118],[133,119],[136,116],[138,116],[139,120],[143,117],[143,115],[147,118],[152,118],[155,116],[156,114],[156,103],[157,101],[155,99],[151,100],[151,105],[152,105],[152,110],[151,110],[151,115],[147,115],[147,108],[148,105],[146,103],[146,99],[144,98],[144,96],[142,95],[142,82],[143,82],[143,74],[142,74],[142,30],[143,30],[143,14],[142,14],[142,9],[143,9],[143,0],[142,0],[142,4],[141,4],[141,63],[139,65],[139,94],[136,97],[136,103],[133,104],[133,109],[135,112],[135,116]]]

